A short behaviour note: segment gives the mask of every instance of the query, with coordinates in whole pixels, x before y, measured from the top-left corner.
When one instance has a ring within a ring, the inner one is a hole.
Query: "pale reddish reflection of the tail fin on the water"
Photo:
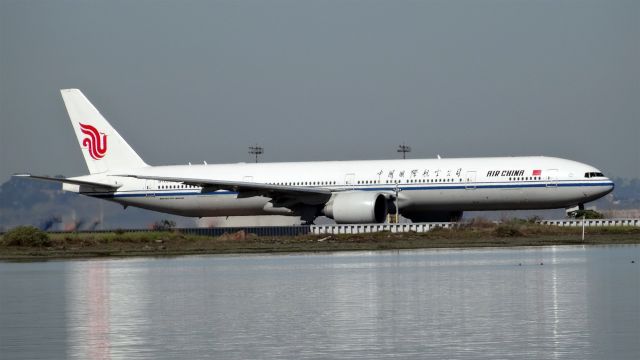
[[[143,354],[149,317],[149,260],[71,262],[67,312],[69,357],[111,359]],[[141,266],[142,265],[142,266]]]

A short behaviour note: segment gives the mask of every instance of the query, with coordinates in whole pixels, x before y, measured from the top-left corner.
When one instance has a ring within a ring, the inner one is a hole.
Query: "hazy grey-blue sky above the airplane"
[[[149,164],[546,155],[640,177],[640,1],[0,0],[0,182]]]

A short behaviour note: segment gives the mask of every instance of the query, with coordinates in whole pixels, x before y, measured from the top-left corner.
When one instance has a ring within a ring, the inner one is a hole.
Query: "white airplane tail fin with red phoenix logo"
[[[89,173],[148,166],[80,90],[60,92]]]

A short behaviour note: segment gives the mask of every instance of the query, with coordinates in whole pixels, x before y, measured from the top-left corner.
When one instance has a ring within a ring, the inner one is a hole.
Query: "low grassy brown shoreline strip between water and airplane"
[[[49,234],[50,246],[7,246],[0,242],[0,261],[632,244],[640,244],[640,227],[590,228],[583,242],[580,228],[530,223],[470,225],[426,233],[380,232],[287,237],[258,237],[242,231],[217,237],[171,231],[68,233]]]

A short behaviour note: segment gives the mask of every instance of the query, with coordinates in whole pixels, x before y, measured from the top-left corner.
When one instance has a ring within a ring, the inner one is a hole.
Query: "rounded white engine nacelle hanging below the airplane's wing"
[[[338,224],[381,223],[387,217],[387,199],[368,191],[336,193],[322,213]]]

